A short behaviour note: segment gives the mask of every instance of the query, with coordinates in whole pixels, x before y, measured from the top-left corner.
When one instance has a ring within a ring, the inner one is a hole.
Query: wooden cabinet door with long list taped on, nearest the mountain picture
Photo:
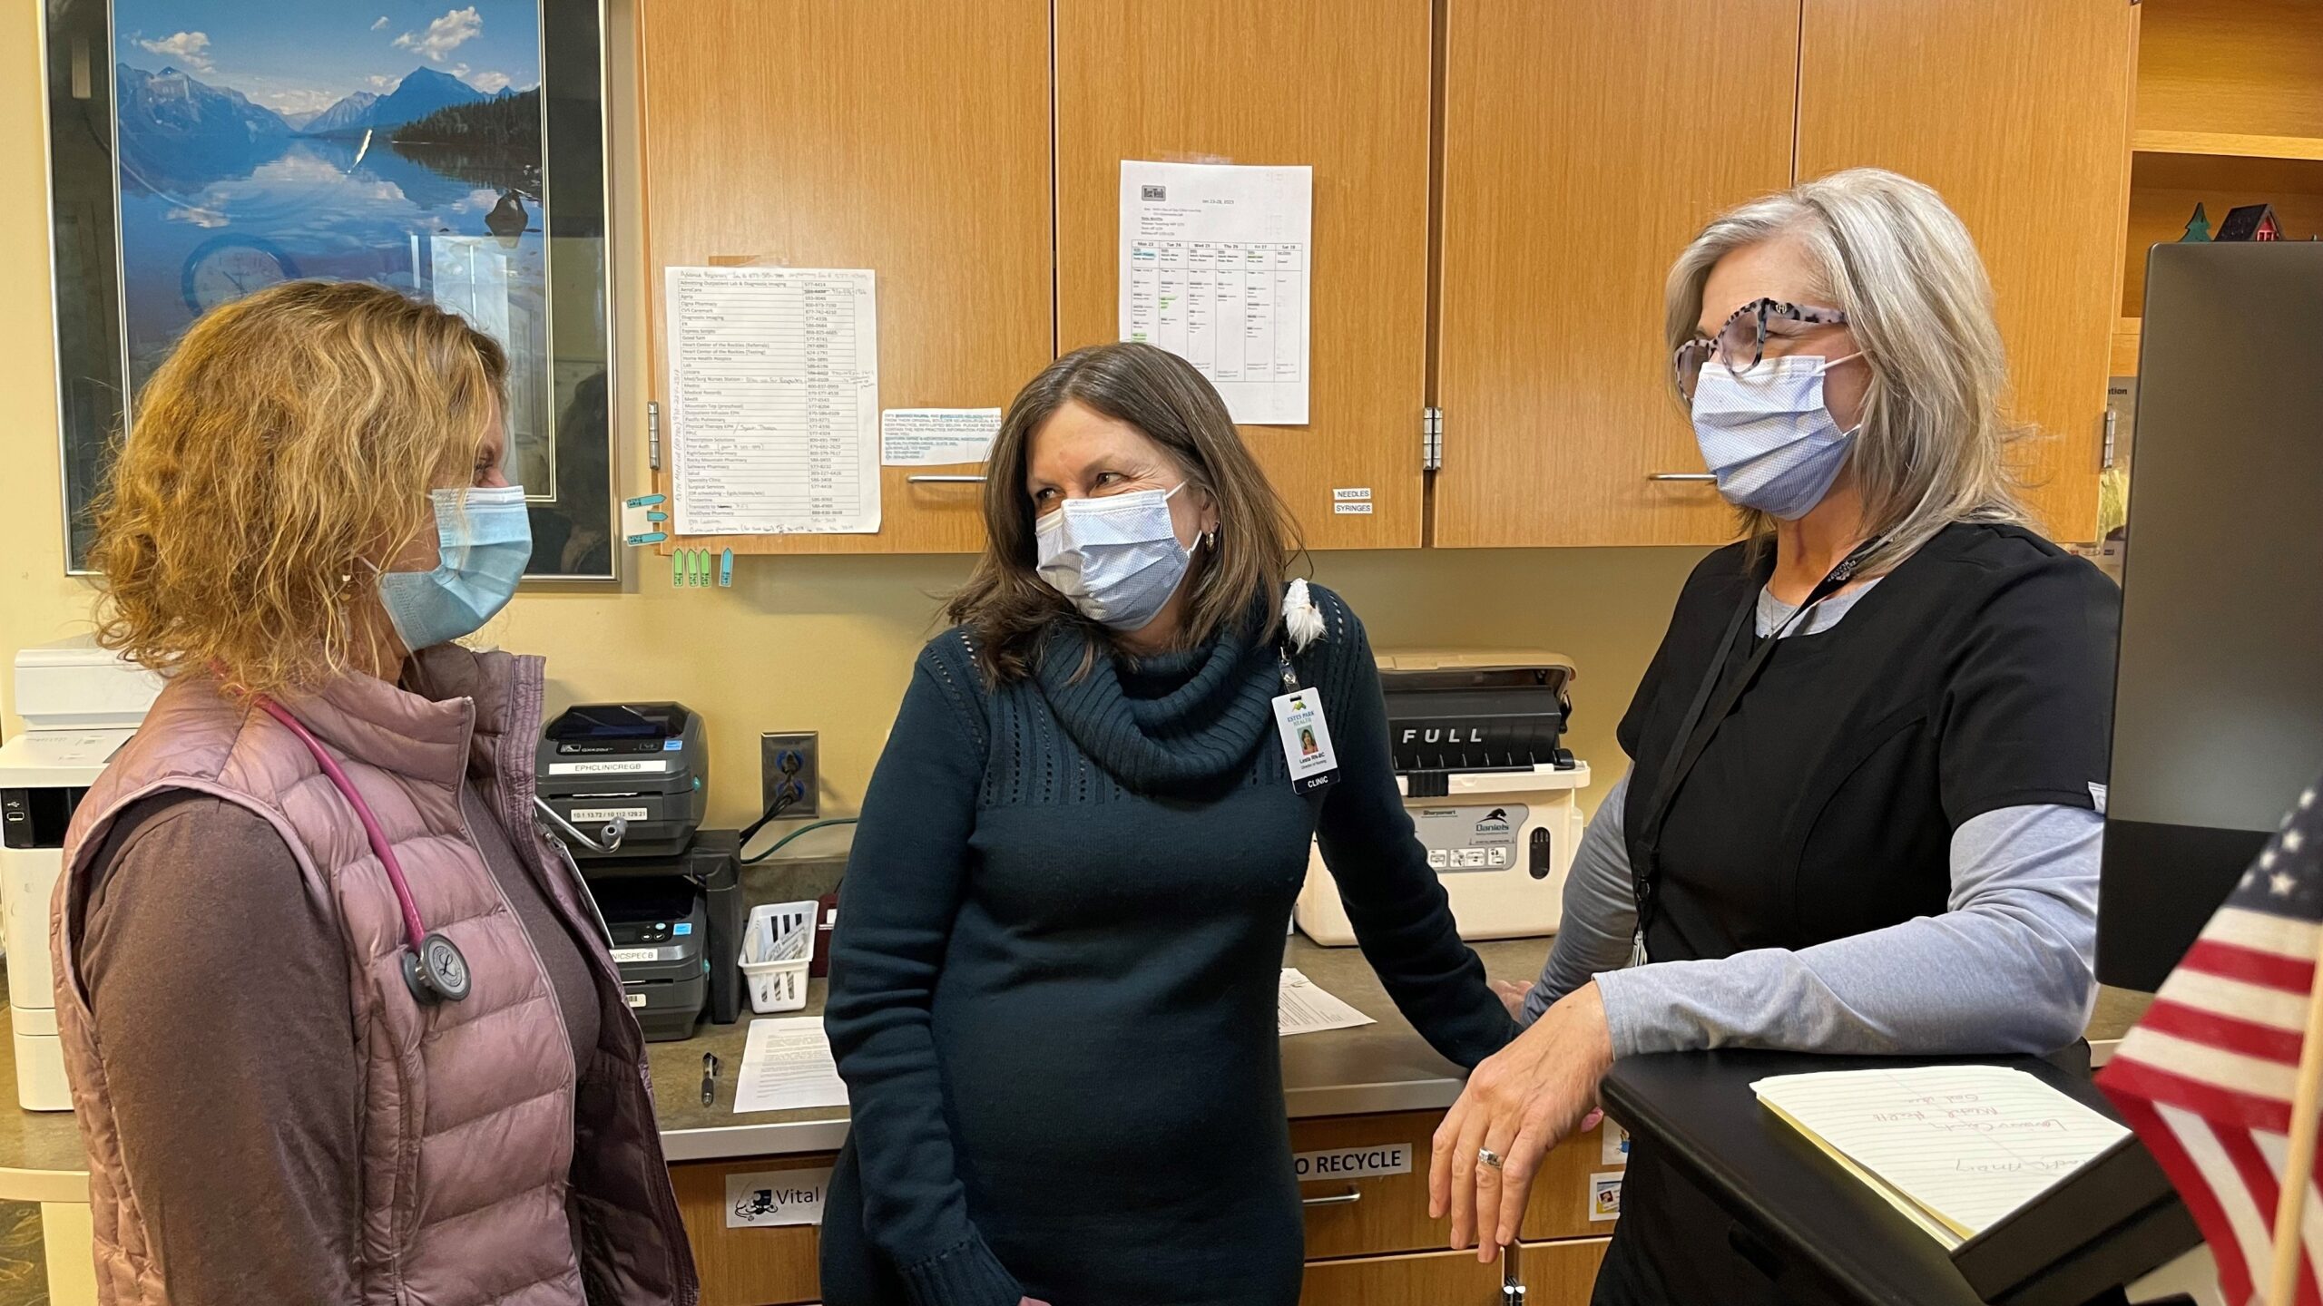
[[[650,374],[664,411],[662,270],[683,265],[871,267],[885,409],[1006,404],[1048,365],[1048,0],[646,0],[637,30]],[[976,486],[906,481],[938,472],[978,467],[880,469],[878,534],[681,544],[983,548]]]

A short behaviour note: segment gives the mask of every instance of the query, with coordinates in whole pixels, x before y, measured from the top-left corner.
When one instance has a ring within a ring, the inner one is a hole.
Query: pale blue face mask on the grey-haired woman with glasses
[[[1703,367],[1693,383],[1693,439],[1719,479],[1726,502],[1782,521],[1807,516],[1824,502],[1856,444],[1824,407],[1824,372],[1861,358],[1821,360],[1812,353],[1761,358],[1735,374]]]

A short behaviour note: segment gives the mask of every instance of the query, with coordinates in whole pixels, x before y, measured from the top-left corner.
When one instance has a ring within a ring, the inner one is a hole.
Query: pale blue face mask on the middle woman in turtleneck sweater
[[[1089,620],[1143,630],[1168,607],[1194,558],[1168,516],[1182,488],[1066,500],[1031,523],[1041,579]]]

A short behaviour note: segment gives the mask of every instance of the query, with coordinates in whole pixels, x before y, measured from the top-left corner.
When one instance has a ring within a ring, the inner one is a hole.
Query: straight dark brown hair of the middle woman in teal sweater
[[[945,616],[976,637],[976,660],[994,683],[1031,672],[1057,623],[1103,627],[1080,616],[1034,567],[1034,511],[1024,493],[1031,435],[1066,402],[1124,421],[1187,469],[1187,488],[1217,504],[1217,544],[1194,555],[1185,641],[1201,644],[1264,611],[1259,632],[1282,620],[1282,581],[1299,546],[1266,472],[1234,430],[1224,400],[1192,363],[1150,344],[1092,344],[1050,363],[1008,404],[985,462],[985,555]],[[1094,648],[1094,641],[1089,644]]]

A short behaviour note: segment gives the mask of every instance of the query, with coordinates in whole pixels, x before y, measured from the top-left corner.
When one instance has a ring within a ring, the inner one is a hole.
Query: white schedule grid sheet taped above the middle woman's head
[[[1315,170],[1122,160],[1122,339],[1157,344],[1252,425],[1308,421]]]

